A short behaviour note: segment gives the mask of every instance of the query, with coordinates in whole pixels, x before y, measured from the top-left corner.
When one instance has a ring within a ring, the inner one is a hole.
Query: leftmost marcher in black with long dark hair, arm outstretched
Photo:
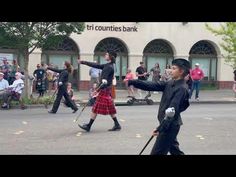
[[[71,100],[71,97],[69,96],[67,92],[67,83],[68,83],[68,77],[69,74],[72,73],[72,66],[69,62],[64,63],[64,69],[55,69],[47,67],[47,69],[52,70],[54,72],[59,73],[59,79],[58,79],[58,93],[56,100],[54,101],[52,110],[48,111],[48,113],[55,114],[59,108],[62,96],[64,96],[65,101],[67,102],[67,105],[73,109],[73,113],[78,111],[78,107],[76,104]]]

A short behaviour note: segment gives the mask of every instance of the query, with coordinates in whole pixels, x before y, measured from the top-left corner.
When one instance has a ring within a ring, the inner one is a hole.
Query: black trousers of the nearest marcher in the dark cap
[[[179,149],[179,142],[177,135],[179,133],[180,125],[171,124],[166,132],[161,132],[152,148],[151,155],[184,155],[183,151]]]

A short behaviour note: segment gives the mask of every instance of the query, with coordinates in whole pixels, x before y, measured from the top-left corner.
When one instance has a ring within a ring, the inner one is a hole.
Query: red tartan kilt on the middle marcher
[[[111,88],[102,89],[99,92],[92,112],[102,115],[116,114],[116,108],[111,97]]]

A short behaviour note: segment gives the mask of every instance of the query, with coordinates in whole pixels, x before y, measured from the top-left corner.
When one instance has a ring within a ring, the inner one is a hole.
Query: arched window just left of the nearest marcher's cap
[[[173,55],[173,50],[166,41],[155,39],[149,42],[143,50],[143,60],[147,71],[150,71],[156,63],[159,63],[161,74],[163,74],[166,65],[171,64],[174,59]],[[150,77],[149,80],[151,80]]]

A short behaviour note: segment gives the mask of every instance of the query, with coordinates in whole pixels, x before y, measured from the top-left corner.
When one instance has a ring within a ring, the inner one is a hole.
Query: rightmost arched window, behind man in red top
[[[215,83],[217,80],[217,52],[208,41],[202,40],[193,45],[189,52],[189,61],[192,68],[196,63],[200,64],[205,77],[205,83]]]

